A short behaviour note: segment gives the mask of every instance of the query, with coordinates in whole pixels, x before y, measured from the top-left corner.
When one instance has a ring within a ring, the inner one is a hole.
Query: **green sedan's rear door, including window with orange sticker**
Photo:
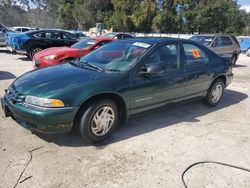
[[[206,92],[213,77],[209,52],[188,42],[182,43],[186,97]]]

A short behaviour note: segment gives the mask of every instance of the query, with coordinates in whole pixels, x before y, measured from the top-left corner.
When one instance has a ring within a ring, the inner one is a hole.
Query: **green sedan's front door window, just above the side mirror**
[[[179,67],[177,49],[175,44],[161,46],[147,58],[145,65],[158,64],[163,70],[176,69]]]

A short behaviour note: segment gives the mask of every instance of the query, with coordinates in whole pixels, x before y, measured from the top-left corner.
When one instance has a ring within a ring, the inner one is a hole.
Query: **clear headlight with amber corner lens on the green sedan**
[[[25,103],[32,104],[35,106],[42,106],[42,107],[64,107],[64,103],[58,99],[46,99],[34,96],[26,96]]]

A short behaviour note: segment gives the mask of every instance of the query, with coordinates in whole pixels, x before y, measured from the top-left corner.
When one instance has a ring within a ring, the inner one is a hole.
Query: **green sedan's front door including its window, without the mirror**
[[[140,71],[152,65],[160,65],[162,71],[142,75]],[[179,44],[165,44],[145,57],[143,65],[131,80],[131,114],[160,107],[184,94],[184,69],[180,61]]]

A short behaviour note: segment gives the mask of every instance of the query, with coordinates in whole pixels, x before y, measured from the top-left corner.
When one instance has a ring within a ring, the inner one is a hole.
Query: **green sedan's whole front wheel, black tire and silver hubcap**
[[[99,100],[80,111],[78,130],[81,137],[92,143],[107,139],[119,122],[117,105],[109,99]]]

